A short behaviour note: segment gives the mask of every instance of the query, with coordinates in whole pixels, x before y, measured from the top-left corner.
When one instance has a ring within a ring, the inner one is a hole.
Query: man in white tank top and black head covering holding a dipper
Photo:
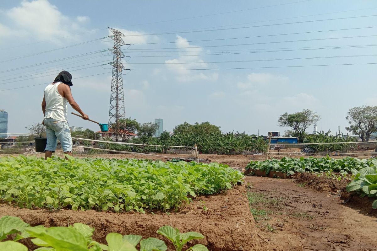
[[[64,154],[72,155],[72,138],[67,120],[67,103],[72,106],[83,119],[89,117],[81,111],[80,106],[72,97],[70,87],[72,75],[68,71],[61,71],[52,84],[44,89],[42,111],[43,125],[46,126],[47,145],[44,149],[44,158],[51,158],[60,140]],[[67,159],[67,158],[66,158]]]

